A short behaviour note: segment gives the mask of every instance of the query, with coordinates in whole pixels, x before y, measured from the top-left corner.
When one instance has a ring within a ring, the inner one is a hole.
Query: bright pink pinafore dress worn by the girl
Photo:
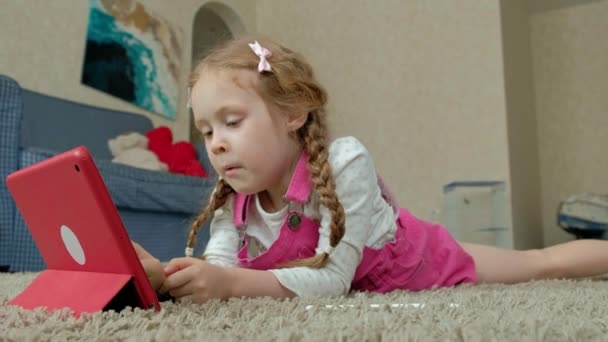
[[[306,153],[302,153],[285,195],[290,204],[297,205],[289,205],[278,239],[256,257],[249,257],[248,242],[244,238],[252,196],[235,196],[233,219],[243,237],[243,246],[238,252],[241,267],[268,270],[287,261],[315,255],[319,222],[293,209],[303,208],[312,191],[307,158]],[[392,242],[379,249],[364,247],[362,261],[352,280],[352,290],[380,293],[395,289],[417,291],[476,281],[473,258],[444,227],[419,220],[405,209],[399,210],[396,223],[397,231]],[[346,229],[348,231],[348,227]]]

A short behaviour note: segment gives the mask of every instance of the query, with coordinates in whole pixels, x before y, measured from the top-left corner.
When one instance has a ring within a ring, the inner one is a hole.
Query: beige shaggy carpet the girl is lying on
[[[161,312],[27,311],[35,274],[0,274],[0,341],[606,341],[608,280],[477,285],[289,301],[164,302]]]

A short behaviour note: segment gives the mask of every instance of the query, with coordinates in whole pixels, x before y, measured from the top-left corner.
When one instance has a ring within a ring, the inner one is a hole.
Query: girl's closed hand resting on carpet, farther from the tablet
[[[201,259],[173,259],[165,267],[165,274],[167,279],[159,292],[168,292],[176,299],[202,304],[213,298],[231,296],[227,269]]]

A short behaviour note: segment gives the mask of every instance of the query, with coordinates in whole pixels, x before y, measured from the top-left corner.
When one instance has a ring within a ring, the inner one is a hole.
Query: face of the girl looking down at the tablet
[[[287,118],[271,113],[254,89],[257,74],[206,70],[192,88],[191,105],[215,171],[240,193],[287,190],[300,153]]]

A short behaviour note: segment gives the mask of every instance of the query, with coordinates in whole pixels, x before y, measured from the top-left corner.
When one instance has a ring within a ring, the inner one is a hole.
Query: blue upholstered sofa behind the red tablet
[[[46,267],[8,192],[6,176],[79,145],[93,155],[131,239],[161,261],[183,256],[190,222],[207,203],[215,175],[202,146],[197,151],[211,173],[208,178],[110,161],[109,139],[150,129],[152,123],[143,115],[46,96],[0,75],[0,266],[13,272]],[[209,229],[203,227],[196,253],[208,237]]]

